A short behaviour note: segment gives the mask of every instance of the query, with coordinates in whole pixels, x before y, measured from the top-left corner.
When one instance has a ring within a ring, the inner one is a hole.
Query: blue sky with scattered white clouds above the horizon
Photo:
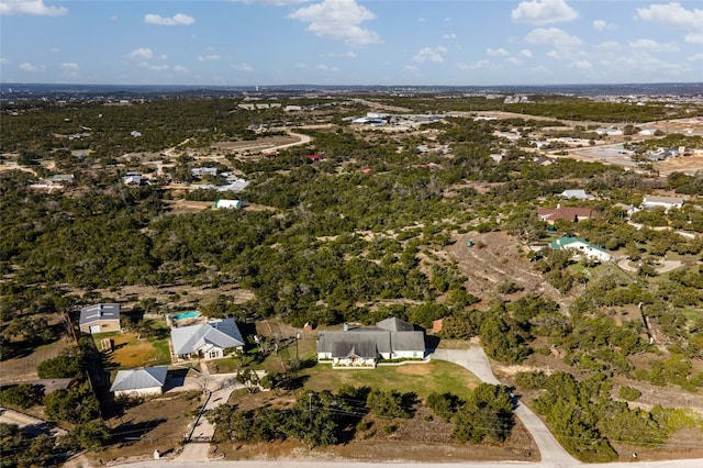
[[[703,81],[703,1],[1,0],[0,81]]]

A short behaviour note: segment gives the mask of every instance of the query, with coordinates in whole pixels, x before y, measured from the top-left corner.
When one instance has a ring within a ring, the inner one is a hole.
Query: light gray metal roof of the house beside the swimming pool
[[[207,324],[171,330],[174,354],[185,355],[211,345],[222,349],[244,346],[242,333],[234,319],[211,320]]]

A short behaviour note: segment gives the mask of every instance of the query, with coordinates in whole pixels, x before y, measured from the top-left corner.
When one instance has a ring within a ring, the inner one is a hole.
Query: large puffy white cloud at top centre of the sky
[[[289,18],[309,23],[306,30],[320,37],[344,41],[348,45],[381,42],[377,33],[359,26],[376,15],[355,0],[324,0],[295,10]]]

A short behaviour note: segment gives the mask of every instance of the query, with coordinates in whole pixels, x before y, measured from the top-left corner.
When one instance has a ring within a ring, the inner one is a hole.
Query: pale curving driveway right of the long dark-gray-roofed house
[[[486,353],[483,353],[483,348],[480,346],[471,346],[469,349],[437,349],[432,355],[432,358],[457,364],[487,383],[500,383],[493,375],[491,364]],[[515,409],[515,415],[525,424],[525,427],[535,439],[544,464],[565,467],[580,465],[579,460],[569,455],[559,445],[551,432],[529,408],[518,403]]]

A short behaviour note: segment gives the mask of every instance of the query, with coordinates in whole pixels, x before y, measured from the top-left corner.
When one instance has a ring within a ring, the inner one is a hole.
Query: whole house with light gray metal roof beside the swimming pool
[[[244,349],[244,338],[234,319],[171,330],[172,353],[179,358],[219,359],[230,349]]]

